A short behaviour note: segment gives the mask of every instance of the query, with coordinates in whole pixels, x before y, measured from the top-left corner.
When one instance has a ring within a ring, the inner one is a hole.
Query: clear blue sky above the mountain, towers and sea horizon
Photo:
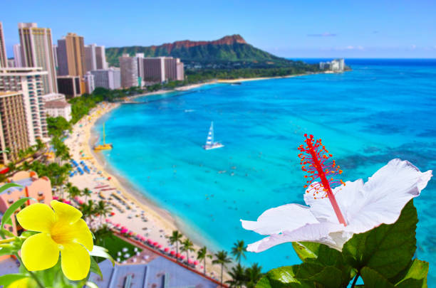
[[[106,47],[214,40],[239,33],[288,58],[436,58],[436,1],[3,1],[8,55],[18,23]]]

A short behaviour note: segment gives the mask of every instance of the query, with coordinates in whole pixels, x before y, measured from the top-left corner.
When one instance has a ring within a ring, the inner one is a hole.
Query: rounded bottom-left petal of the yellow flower
[[[29,271],[46,270],[56,265],[59,247],[48,233],[38,233],[27,238],[21,246],[21,260]]]

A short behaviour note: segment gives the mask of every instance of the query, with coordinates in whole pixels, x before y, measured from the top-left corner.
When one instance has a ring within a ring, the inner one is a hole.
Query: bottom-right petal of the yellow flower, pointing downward
[[[77,243],[63,246],[61,250],[61,266],[65,276],[73,281],[81,280],[88,275],[90,255],[85,247]]]

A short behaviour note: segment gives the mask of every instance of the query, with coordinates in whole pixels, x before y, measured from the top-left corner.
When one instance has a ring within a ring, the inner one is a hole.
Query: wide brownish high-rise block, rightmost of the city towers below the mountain
[[[179,58],[154,57],[143,58],[144,82],[147,84],[162,83],[169,80],[184,80],[185,70]]]

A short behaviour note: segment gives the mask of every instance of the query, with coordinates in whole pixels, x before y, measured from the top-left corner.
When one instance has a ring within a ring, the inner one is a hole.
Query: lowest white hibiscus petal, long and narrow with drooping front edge
[[[285,231],[281,234],[273,234],[260,241],[251,243],[247,246],[246,250],[250,252],[262,252],[276,245],[283,244],[285,242],[299,242],[309,241],[318,242],[328,245],[336,250],[342,250],[342,242],[346,242],[347,239],[340,239],[341,243],[337,243],[330,233],[343,230],[343,225],[331,224],[331,223],[316,223],[306,224],[301,228],[293,231]],[[346,236],[346,235],[344,235]],[[338,235],[336,235],[338,237]]]

